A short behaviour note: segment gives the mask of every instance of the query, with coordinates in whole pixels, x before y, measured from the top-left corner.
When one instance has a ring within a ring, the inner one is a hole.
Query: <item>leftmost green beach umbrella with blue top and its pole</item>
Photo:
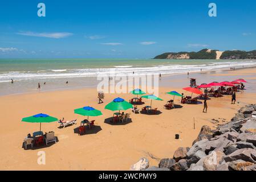
[[[23,122],[29,122],[29,123],[40,123],[40,133],[41,133],[41,123],[50,123],[54,121],[58,121],[59,119],[51,117],[47,114],[36,114],[32,115],[30,117],[22,118]]]

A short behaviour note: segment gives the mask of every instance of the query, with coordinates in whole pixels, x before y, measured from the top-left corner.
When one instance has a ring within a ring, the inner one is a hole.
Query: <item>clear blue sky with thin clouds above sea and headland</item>
[[[38,17],[37,5],[46,5]],[[208,15],[216,3],[217,17]],[[4,1],[0,58],[151,58],[256,49],[256,1]]]

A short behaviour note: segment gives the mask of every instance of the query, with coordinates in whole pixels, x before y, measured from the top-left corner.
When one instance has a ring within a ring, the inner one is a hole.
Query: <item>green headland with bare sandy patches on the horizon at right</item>
[[[255,51],[218,51],[202,49],[198,52],[165,52],[154,59],[256,59]]]

